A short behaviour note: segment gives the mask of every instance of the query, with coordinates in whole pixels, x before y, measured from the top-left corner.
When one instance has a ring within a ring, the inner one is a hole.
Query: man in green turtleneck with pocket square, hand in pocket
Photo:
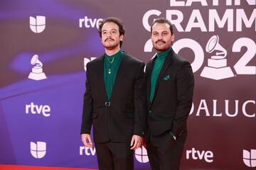
[[[151,41],[157,54],[146,64],[146,147],[151,169],[174,170],[179,169],[187,136],[193,72],[191,64],[172,49],[174,27],[166,18],[152,23]]]

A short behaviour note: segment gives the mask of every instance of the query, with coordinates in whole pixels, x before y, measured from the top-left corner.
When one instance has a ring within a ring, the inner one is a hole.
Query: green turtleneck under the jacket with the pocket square
[[[154,59],[154,66],[151,72],[151,81],[150,81],[150,92],[149,92],[149,101],[150,103],[153,101],[154,94],[156,91],[156,82],[159,77],[159,73],[161,71],[161,68],[164,65],[164,61],[166,59],[166,56],[170,52],[171,47],[169,47],[164,52],[157,52],[156,57]]]

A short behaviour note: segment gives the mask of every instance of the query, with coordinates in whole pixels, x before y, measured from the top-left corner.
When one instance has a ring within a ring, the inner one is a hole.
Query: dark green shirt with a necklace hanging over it
[[[119,68],[123,54],[124,52],[122,52],[121,50],[119,50],[119,52],[115,53],[114,55],[105,54],[104,83],[105,83],[105,91],[107,92],[107,98],[109,101],[111,99],[114,80],[117,76],[117,70]]]

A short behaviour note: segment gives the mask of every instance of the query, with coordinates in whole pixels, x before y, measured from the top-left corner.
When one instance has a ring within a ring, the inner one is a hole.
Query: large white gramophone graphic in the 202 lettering
[[[230,67],[227,67],[227,51],[219,44],[218,35],[213,35],[206,45],[206,52],[213,51],[217,52],[208,59],[208,66],[203,68],[200,76],[215,80],[234,77]]]

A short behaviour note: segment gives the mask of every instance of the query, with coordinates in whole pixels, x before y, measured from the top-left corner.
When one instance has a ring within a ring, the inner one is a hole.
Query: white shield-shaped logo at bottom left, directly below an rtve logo
[[[46,142],[31,142],[30,149],[34,158],[41,159],[46,155]]]

